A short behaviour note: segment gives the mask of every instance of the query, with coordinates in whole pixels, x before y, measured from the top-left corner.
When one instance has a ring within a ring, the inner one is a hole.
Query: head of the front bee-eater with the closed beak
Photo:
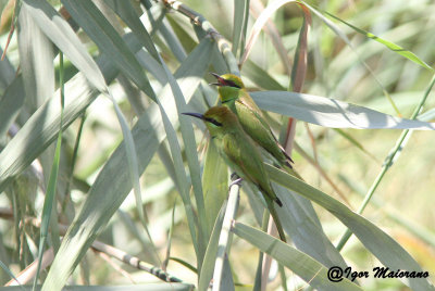
[[[211,136],[224,134],[227,130],[240,127],[237,116],[225,106],[210,107],[204,114],[183,113],[202,119]]]

